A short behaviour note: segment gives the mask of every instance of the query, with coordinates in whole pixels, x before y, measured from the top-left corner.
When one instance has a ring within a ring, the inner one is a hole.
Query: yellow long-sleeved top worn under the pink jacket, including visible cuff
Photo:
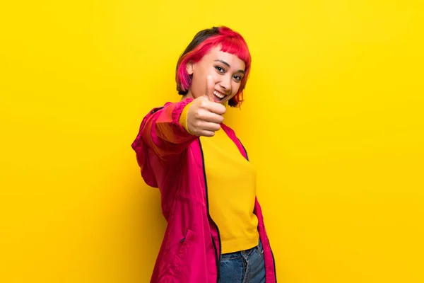
[[[189,105],[179,121],[187,129]],[[228,135],[219,129],[213,137],[200,137],[204,152],[209,212],[220,231],[222,253],[257,246],[258,219],[253,213],[256,170]]]

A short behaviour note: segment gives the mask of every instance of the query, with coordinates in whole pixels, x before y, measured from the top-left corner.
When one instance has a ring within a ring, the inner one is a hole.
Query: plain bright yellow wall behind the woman
[[[221,24],[252,52],[225,120],[259,171],[279,281],[424,282],[423,6],[2,2],[0,282],[148,282],[165,221],[130,144]]]

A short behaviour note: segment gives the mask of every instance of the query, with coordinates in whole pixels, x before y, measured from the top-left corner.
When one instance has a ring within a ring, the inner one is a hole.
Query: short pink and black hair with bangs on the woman
[[[187,73],[187,63],[199,62],[211,48],[220,46],[220,50],[235,54],[245,62],[245,76],[240,82],[239,91],[228,101],[232,107],[240,107],[243,101],[243,90],[245,89],[247,77],[249,76],[250,57],[249,48],[245,39],[240,33],[231,30],[225,26],[213,27],[207,30],[201,30],[197,33],[186,50],[178,59],[175,80],[177,81],[177,91],[179,94],[187,94],[192,85],[192,76]]]

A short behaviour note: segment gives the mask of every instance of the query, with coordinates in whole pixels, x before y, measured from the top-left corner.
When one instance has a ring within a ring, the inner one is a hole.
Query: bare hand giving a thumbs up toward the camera
[[[213,100],[215,83],[212,76],[206,80],[206,93],[192,101],[187,112],[187,127],[196,136],[213,137],[223,122],[225,106]]]

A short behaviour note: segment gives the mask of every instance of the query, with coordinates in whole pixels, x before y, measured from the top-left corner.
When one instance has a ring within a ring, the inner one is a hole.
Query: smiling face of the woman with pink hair
[[[245,75],[245,62],[234,54],[213,47],[199,62],[189,62],[187,72],[192,76],[186,97],[198,98],[206,94],[206,78],[212,76],[215,82],[213,98],[215,102],[229,100],[235,96]]]

